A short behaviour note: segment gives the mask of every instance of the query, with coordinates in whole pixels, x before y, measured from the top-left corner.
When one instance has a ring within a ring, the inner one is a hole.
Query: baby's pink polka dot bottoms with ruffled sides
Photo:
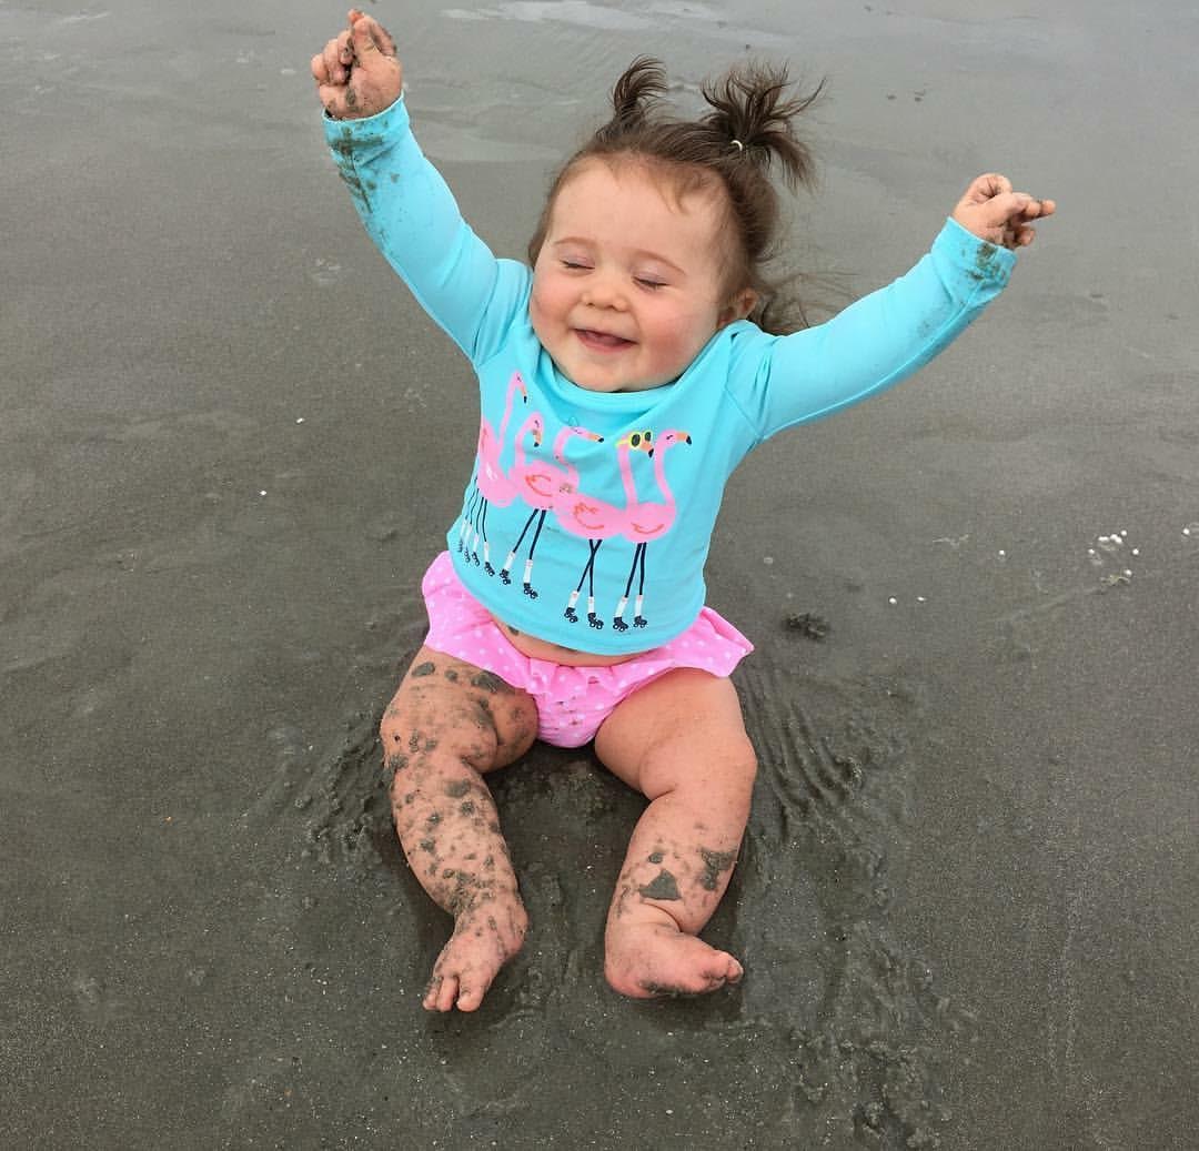
[[[576,668],[517,651],[463,587],[448,552],[424,573],[421,592],[429,614],[424,643],[528,692],[537,704],[537,737],[555,747],[590,743],[622,699],[667,671],[698,668],[724,679],[753,651],[741,632],[704,608],[686,632],[661,647],[610,667]]]

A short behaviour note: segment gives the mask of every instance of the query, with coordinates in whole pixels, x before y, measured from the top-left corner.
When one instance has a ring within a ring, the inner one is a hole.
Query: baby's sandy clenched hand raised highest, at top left
[[[335,120],[361,120],[390,108],[404,86],[396,41],[372,16],[350,10],[350,26],[312,58],[317,95]]]

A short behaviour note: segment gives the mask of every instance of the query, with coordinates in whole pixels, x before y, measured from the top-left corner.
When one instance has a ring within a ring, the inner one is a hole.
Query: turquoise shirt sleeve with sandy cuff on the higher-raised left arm
[[[326,116],[325,139],[387,263],[472,362],[486,360],[526,305],[529,270],[496,259],[462,218],[403,100],[363,120]]]

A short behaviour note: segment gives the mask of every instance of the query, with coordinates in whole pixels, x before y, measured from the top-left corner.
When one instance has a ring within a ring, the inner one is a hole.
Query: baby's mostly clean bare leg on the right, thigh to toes
[[[671,671],[620,704],[596,754],[650,800],[608,911],[608,982],[640,999],[736,983],[741,964],[698,938],[728,887],[757,771],[735,688]]]

